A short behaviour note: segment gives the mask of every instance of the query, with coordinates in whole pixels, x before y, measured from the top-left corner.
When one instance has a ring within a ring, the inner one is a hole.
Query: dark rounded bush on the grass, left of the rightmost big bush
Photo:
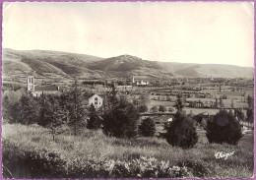
[[[185,114],[177,113],[165,129],[165,139],[173,147],[188,149],[198,142],[193,120]]]

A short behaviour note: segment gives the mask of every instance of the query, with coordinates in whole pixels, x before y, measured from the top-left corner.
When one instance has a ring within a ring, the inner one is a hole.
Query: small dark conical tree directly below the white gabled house
[[[94,104],[91,104],[90,106],[90,119],[88,121],[87,128],[93,130],[101,128],[101,120],[96,114],[96,108]]]

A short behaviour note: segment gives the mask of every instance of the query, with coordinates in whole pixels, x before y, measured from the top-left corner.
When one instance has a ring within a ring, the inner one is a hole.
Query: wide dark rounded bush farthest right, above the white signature
[[[209,143],[236,145],[242,138],[241,126],[232,113],[220,110],[207,122],[206,137]]]

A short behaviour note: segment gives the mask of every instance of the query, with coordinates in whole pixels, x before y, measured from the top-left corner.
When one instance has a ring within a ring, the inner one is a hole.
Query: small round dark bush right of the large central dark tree
[[[144,119],[139,126],[139,131],[142,136],[153,137],[156,133],[155,122],[151,118]]]

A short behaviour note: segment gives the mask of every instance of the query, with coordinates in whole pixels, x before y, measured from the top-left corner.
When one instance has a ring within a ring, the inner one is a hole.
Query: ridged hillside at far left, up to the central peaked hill
[[[102,58],[58,51],[18,51],[3,49],[3,75],[12,75],[14,72],[27,76],[32,72],[43,76],[45,73],[70,77],[74,75],[94,74],[88,69],[88,64]]]

